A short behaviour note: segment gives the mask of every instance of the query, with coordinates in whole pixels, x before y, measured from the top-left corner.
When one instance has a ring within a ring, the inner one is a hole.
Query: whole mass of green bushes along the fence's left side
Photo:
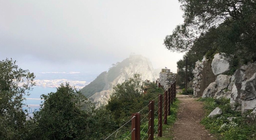
[[[15,61],[8,59],[0,61],[0,70],[0,106],[3,108],[0,110],[1,139],[103,140],[130,120],[131,113],[138,112],[163,93],[163,89],[154,83],[145,83],[147,94],[142,94],[140,75],[134,74],[134,77],[114,87],[109,105],[96,109],[80,91],[66,83],[61,84],[56,92],[41,95],[44,103],[40,111],[26,120],[28,116],[22,110],[23,96],[29,94],[35,84],[34,74],[19,69]],[[168,116],[170,124],[176,119],[177,104],[178,101],[175,101],[171,108],[172,115]],[[140,111],[142,117],[147,112],[147,108]],[[156,124],[157,121],[155,119]],[[146,123],[147,119],[142,122]],[[110,139],[125,138],[130,133],[130,126],[128,123]]]

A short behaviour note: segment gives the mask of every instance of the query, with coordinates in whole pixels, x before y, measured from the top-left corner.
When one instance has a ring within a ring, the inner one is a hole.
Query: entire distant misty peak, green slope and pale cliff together
[[[148,58],[141,55],[131,55],[122,62],[118,62],[108,72],[100,74],[93,82],[85,86],[81,92],[89,97],[97,107],[105,105],[113,92],[113,86],[124,82],[132,77],[134,73],[140,73],[142,80],[155,81],[159,77],[159,71],[153,69],[152,63]]]

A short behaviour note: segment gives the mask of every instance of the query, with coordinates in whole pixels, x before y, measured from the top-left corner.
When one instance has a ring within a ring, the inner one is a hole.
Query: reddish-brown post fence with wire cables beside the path
[[[163,87],[160,83],[158,83],[158,87]],[[154,140],[157,137],[162,137],[163,134],[163,124],[167,124],[167,116],[171,115],[170,107],[173,104],[173,101],[176,99],[176,82],[170,84],[170,86],[167,88],[167,90],[159,94],[155,99],[149,101],[149,104],[142,108],[137,113],[132,113],[132,118],[127,121],[124,125],[131,122],[131,132],[124,138],[128,139],[131,138],[131,140],[143,140],[146,136],[148,140]],[[155,110],[155,107],[157,106],[157,109]],[[141,112],[142,110],[148,108],[147,114],[141,119]],[[155,114],[157,114],[157,124],[154,124]],[[146,125],[144,125],[141,129],[141,122],[148,118],[148,121]],[[119,129],[117,129],[115,132],[113,132],[111,135],[109,135],[107,139],[111,139],[111,136],[114,136],[115,133],[117,133],[124,125],[122,125]],[[141,132],[146,128],[147,132],[146,134],[141,138]],[[156,131],[154,132],[154,129]],[[131,136],[131,137],[129,137]],[[154,138],[155,136],[155,138]]]

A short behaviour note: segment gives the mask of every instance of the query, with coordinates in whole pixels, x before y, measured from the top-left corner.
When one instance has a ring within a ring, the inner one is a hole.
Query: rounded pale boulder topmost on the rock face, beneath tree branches
[[[219,75],[229,71],[229,62],[222,58],[219,53],[214,55],[211,63],[212,72],[214,75]]]

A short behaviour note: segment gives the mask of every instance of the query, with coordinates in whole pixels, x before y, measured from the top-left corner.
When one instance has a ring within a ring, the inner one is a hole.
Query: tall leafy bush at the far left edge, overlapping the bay
[[[0,61],[0,138],[23,139],[27,128],[26,114],[22,107],[24,95],[35,85],[34,73],[23,70],[16,61],[5,59]]]

